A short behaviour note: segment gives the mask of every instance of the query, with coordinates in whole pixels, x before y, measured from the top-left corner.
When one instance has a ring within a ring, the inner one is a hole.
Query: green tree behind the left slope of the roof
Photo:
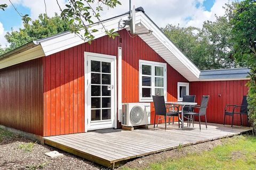
[[[19,31],[7,32],[5,38],[9,47],[0,50],[0,54],[15,49],[32,40],[37,40],[69,30],[69,24],[63,21],[58,14],[49,18],[46,14],[40,14],[37,20],[30,23],[23,23],[24,28]],[[1,48],[0,48],[1,49]]]

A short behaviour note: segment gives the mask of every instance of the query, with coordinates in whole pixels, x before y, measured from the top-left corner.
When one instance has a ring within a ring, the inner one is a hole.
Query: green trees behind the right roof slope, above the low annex
[[[204,22],[203,28],[167,25],[163,31],[201,70],[235,66],[231,55],[230,24],[226,16]]]

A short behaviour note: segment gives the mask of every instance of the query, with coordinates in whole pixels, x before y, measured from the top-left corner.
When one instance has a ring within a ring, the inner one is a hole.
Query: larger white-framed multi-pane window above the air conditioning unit
[[[166,63],[140,60],[140,101],[153,101],[152,96],[164,96],[166,100]]]

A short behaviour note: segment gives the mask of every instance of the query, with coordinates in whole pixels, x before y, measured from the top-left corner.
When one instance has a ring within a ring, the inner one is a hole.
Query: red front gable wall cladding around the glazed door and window
[[[140,37],[130,37],[126,30],[119,38],[95,39],[44,57],[44,136],[84,132],[84,52],[117,56],[122,47],[123,102],[139,102],[139,60],[163,62]],[[167,65],[167,99],[177,100],[177,82],[187,82]],[[151,111],[153,105],[151,104]],[[151,113],[153,123],[154,112]]]

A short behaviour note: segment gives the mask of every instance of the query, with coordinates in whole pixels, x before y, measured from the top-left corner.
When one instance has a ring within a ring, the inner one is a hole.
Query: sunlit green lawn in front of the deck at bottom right
[[[256,137],[238,135],[223,139],[222,145],[210,151],[151,163],[145,169],[256,169]],[[123,170],[131,169],[125,167]]]

